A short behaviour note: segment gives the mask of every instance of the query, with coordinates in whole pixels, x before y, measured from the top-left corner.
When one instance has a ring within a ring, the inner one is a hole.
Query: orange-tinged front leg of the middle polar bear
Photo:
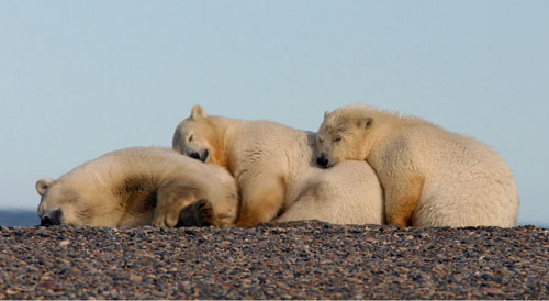
[[[242,207],[237,226],[251,226],[270,222],[277,216],[284,202],[285,186],[279,177],[269,175],[246,177],[242,183]]]

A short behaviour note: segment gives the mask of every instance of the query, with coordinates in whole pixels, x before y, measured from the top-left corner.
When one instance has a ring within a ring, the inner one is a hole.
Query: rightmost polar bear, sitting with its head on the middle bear
[[[519,201],[511,169],[469,136],[356,104],[326,112],[315,145],[323,167],[347,159],[370,164],[384,189],[389,224],[517,224]]]

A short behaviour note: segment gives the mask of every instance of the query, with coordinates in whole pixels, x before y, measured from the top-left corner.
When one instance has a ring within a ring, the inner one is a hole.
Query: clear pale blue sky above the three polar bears
[[[549,224],[549,1],[0,0],[0,208],[211,114],[316,131],[366,103],[495,148]]]

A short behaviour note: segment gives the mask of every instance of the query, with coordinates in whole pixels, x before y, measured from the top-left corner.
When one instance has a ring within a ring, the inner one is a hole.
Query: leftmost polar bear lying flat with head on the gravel
[[[237,216],[235,179],[224,168],[166,147],[105,154],[36,182],[42,225],[225,226]]]

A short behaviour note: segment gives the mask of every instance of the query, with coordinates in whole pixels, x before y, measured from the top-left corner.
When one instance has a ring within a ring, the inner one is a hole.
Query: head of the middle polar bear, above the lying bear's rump
[[[204,109],[194,105],[191,115],[177,126],[172,148],[203,163],[220,165],[216,161],[221,145],[217,131]]]

